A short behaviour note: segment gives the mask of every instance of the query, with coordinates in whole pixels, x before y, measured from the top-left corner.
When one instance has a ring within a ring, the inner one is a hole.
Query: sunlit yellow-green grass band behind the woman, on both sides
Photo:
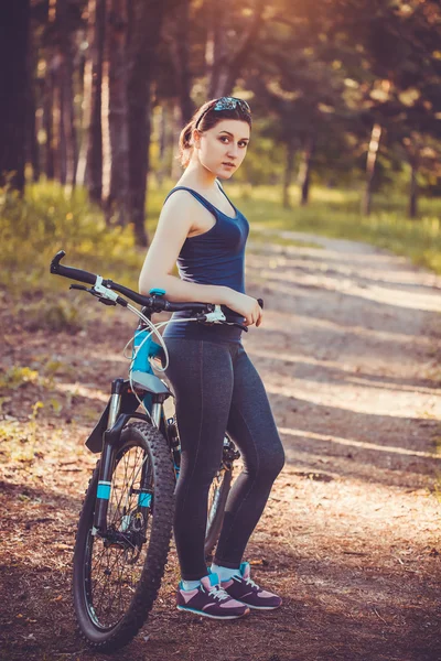
[[[150,237],[171,185],[150,186]],[[252,188],[240,184],[226,187],[249,219],[254,238],[259,235],[254,228],[265,228],[269,231],[266,240],[282,245],[314,246],[310,239],[282,238],[278,230],[367,241],[441,273],[441,199],[421,199],[421,218],[408,220],[404,197],[376,196],[373,215],[363,218],[358,214],[359,195],[354,191],[313,187],[310,205],[300,207],[293,188],[293,207],[283,209],[278,187]],[[87,201],[85,191],[66,195],[63,187],[53,182],[29,185],[24,199],[0,191],[0,288],[19,300],[25,290],[31,293],[66,291],[68,281],[49,272],[52,257],[62,248],[67,253],[65,263],[137,288],[146,251],[135,246],[130,226],[106,227],[100,209]],[[71,312],[53,311],[61,327],[75,322]],[[33,314],[37,316],[37,311]]]

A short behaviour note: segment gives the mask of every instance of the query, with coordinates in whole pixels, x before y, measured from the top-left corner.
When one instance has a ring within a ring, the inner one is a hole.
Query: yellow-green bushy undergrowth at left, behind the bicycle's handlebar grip
[[[67,264],[121,280],[128,286],[137,285],[143,251],[135,248],[130,226],[106,226],[101,212],[87,201],[84,189],[66,194],[60,184],[42,182],[28,186],[24,198],[3,191],[0,285],[17,294],[25,290],[65,290],[67,281],[50,275],[49,270],[51,259],[61,249],[66,251]],[[50,311],[57,328],[79,324],[68,306],[60,305]],[[30,316],[42,322],[36,308]]]

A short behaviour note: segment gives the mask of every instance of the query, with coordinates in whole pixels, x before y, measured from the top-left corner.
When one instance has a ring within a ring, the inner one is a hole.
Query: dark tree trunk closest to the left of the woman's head
[[[135,238],[148,246],[146,220],[149,171],[151,82],[165,2],[133,0],[129,4],[129,181]]]

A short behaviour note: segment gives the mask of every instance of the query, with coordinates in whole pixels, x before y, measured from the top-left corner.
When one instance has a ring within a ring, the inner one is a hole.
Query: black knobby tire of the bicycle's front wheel
[[[96,539],[103,542],[101,538],[93,538],[92,535],[99,462],[86,491],[76,533],[73,562],[75,615],[82,638],[89,647],[103,652],[115,651],[126,646],[146,622],[158,596],[170,550],[174,508],[174,475],[170,449],[159,430],[147,422],[130,423],[121,434],[121,447],[117,453],[112,477],[125,453],[132,447],[141,447],[147,452],[152,467],[153,501],[150,518],[150,540],[148,543],[146,542],[146,559],[142,568],[140,568],[140,577],[135,594],[130,597],[129,607],[112,627],[101,627],[94,621],[93,615],[96,615],[94,604],[89,603],[93,600],[89,593],[93,583],[90,567],[93,566],[94,544]],[[109,570],[109,565],[107,565],[104,573],[106,571],[112,572],[114,566],[115,564]],[[118,573],[118,565],[115,573]]]

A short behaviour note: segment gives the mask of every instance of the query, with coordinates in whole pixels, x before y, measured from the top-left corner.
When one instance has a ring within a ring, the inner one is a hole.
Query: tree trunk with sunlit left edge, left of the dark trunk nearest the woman
[[[106,219],[130,220],[126,0],[108,0],[103,75],[103,202]]]

